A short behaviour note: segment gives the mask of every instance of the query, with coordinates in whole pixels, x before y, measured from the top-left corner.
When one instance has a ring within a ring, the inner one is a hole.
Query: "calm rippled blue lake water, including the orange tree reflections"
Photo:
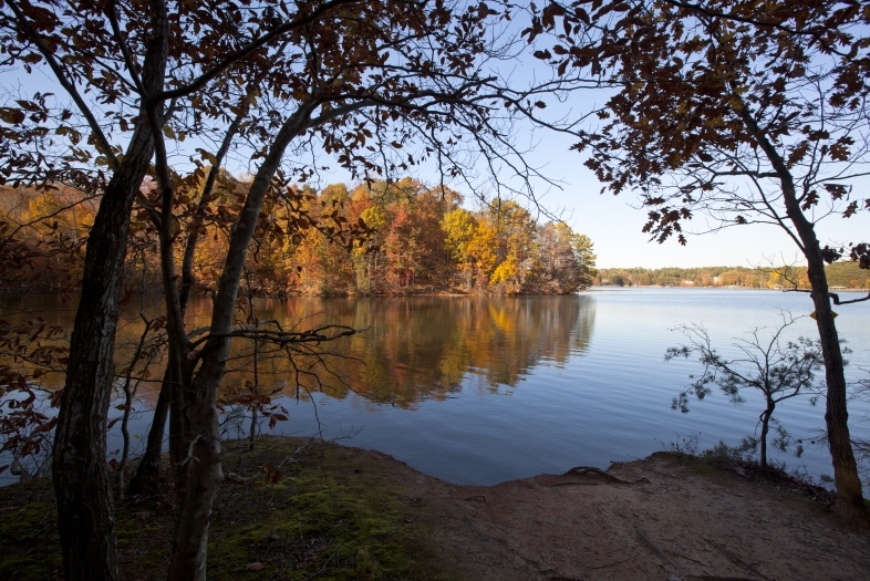
[[[203,324],[207,307],[194,305],[191,328]],[[260,362],[260,382],[289,394],[277,402],[290,419],[271,433],[344,438],[449,483],[491,485],[578,465],[605,468],[696,434],[702,449],[719,440],[737,444],[755,432],[760,398],[747,392],[746,403],[735,406],[714,392],[693,401],[688,414],[672,411],[671,400],[701,367],[691,360],[664,362],[665,349],[684,342],[671,329],[703,323],[721,352],[734,353],[735,338],[755,328],[766,328],[766,336],[781,320],[779,310],[800,315],[812,305],[804,293],[712,289],[275,301],[260,304],[261,319],[292,324],[308,318],[303,326],[331,321],[366,331],[338,346],[343,357],[329,360],[331,373],[301,382],[310,395],[303,390],[292,397],[294,375],[281,359]],[[853,350],[847,376],[866,377],[870,302],[837,311],[841,336]],[[52,314],[60,324],[71,320],[69,308],[55,307]],[[789,331],[793,339],[814,336],[815,321],[804,318]],[[121,342],[137,332],[131,323]],[[238,345],[236,353],[246,349]],[[250,377],[247,366],[227,383],[239,387]],[[143,386],[141,394],[132,426],[139,442],[156,398],[154,387]],[[799,459],[775,457],[812,475],[830,474],[827,452],[810,444],[824,427],[822,415],[822,405],[812,407],[806,398],[781,404],[776,417],[805,438],[806,452]],[[852,403],[850,418],[855,436],[870,437],[870,405]],[[230,437],[239,433],[232,422],[225,428]],[[112,450],[120,447],[116,432]]]

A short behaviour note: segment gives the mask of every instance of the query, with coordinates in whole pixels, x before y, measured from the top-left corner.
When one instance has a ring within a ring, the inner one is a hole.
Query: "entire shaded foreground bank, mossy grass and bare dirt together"
[[[270,436],[253,450],[225,442],[224,470],[209,541],[216,581],[628,580],[663,570],[810,580],[858,579],[868,567],[868,535],[833,517],[832,492],[723,450],[470,487],[379,452]],[[122,578],[163,578],[172,497],[116,502]],[[0,489],[0,577],[60,579],[50,479]]]

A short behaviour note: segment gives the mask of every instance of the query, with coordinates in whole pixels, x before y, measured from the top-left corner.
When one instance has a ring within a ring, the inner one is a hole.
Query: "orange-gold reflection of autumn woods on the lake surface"
[[[58,344],[69,341],[75,315],[73,299],[7,295],[3,308],[1,318],[20,321],[39,315],[66,330],[55,339]],[[298,356],[291,363],[283,352],[269,352],[261,345],[258,380],[263,391],[297,395],[299,383],[303,398],[308,391],[322,391],[334,398],[355,392],[405,408],[423,400],[449,397],[460,391],[469,374],[488,392],[509,392],[542,362],[562,366],[571,355],[586,353],[595,318],[594,298],[588,295],[297,298],[257,300],[255,309],[259,320],[275,319],[284,329],[338,323],[363,330],[324,345],[329,352],[325,369],[307,357]],[[116,367],[122,371],[130,366],[145,328],[139,311],[148,319],[159,315],[160,298],[134,299],[125,305],[115,353]],[[207,326],[209,314],[209,299],[194,300],[186,321],[188,331]],[[240,309],[240,324],[247,315]],[[252,355],[250,341],[234,341],[225,390],[253,383]],[[27,361],[17,364],[31,367]],[[139,362],[139,371],[143,365]],[[139,385],[138,396],[146,404],[156,401],[162,365],[159,357],[153,361]],[[298,376],[294,369],[310,370],[311,374]],[[62,386],[63,376],[51,373],[41,381],[54,388]]]

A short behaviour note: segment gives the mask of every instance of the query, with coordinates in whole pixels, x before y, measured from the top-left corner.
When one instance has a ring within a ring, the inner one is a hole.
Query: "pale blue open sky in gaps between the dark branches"
[[[510,27],[520,27],[515,21]],[[519,29],[517,29],[519,30]],[[509,80],[517,86],[528,86],[539,82],[551,74],[537,59],[532,59],[527,51],[518,50],[515,59],[501,61],[490,70],[503,80]],[[64,91],[56,85],[44,70],[37,66],[31,75],[23,71],[7,72],[0,75],[0,86],[6,89],[21,87],[27,83],[28,90],[52,92],[59,100],[66,101]],[[583,114],[594,111],[607,103],[610,91],[601,89],[583,89],[561,101],[555,96],[541,97],[547,102],[546,114],[549,120],[579,118]],[[594,120],[594,117],[592,117]],[[584,124],[584,128],[594,128],[594,121]],[[569,135],[557,134],[530,124],[518,124],[514,127],[515,144],[525,152],[525,160],[540,172],[551,183],[539,180],[535,184],[535,197],[541,209],[549,216],[561,217],[573,231],[584,234],[592,239],[594,251],[598,256],[600,268],[663,268],[679,267],[693,268],[704,266],[735,266],[758,267],[804,263],[799,250],[794,241],[778,227],[770,225],[747,225],[731,227],[721,231],[690,235],[688,243],[680,246],[676,240],[667,240],[660,245],[650,241],[650,237],[642,232],[646,221],[646,209],[641,208],[638,197],[632,193],[613,196],[610,193],[601,194],[601,184],[594,174],[583,166],[586,153],[570,151],[574,139]],[[194,149],[204,146],[215,149],[214,144],[188,139],[182,149],[170,153],[176,169],[184,170],[189,165],[189,156]],[[411,149],[410,149],[411,151]],[[338,163],[331,156],[318,157],[318,165],[329,166],[331,169],[321,170],[311,185],[318,189],[336,183],[353,186],[354,180],[350,174],[338,168]],[[323,162],[321,164],[320,162]],[[256,169],[250,156],[245,151],[236,151],[227,157],[227,169],[242,176]],[[480,173],[472,190],[462,181],[450,183],[448,186],[459,191],[465,197],[468,209],[478,209],[475,205],[476,195],[494,197],[495,189],[491,179],[487,179],[483,164],[478,164]],[[870,168],[867,168],[870,173]],[[508,172],[505,172],[508,174]],[[380,176],[374,176],[380,177]],[[405,176],[395,176],[396,179]],[[435,185],[438,174],[434,167],[417,166],[410,172],[410,177],[427,185]],[[501,179],[503,176],[499,176]],[[851,183],[853,198],[870,198],[870,177],[863,177]],[[516,183],[515,183],[516,185]],[[534,204],[528,199],[517,198],[517,201],[536,214]],[[543,224],[547,215],[536,216]],[[696,215],[690,222],[695,232],[710,231],[715,222],[704,215]],[[842,246],[847,242],[870,241],[870,211],[859,211],[849,219],[839,215],[829,216],[820,220],[816,228],[818,238],[824,245]]]

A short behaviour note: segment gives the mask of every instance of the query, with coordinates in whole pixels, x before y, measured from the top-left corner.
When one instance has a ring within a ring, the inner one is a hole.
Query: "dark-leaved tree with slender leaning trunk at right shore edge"
[[[613,83],[602,125],[574,148],[607,189],[640,194],[644,231],[685,243],[684,225],[704,215],[719,228],[776,226],[800,249],[825,359],[837,510],[859,528],[870,523],[825,276],[836,256],[815,226],[870,209],[849,185],[870,154],[868,23],[857,1],[581,0],[549,4],[526,31],[552,32],[537,55],[558,72]]]

